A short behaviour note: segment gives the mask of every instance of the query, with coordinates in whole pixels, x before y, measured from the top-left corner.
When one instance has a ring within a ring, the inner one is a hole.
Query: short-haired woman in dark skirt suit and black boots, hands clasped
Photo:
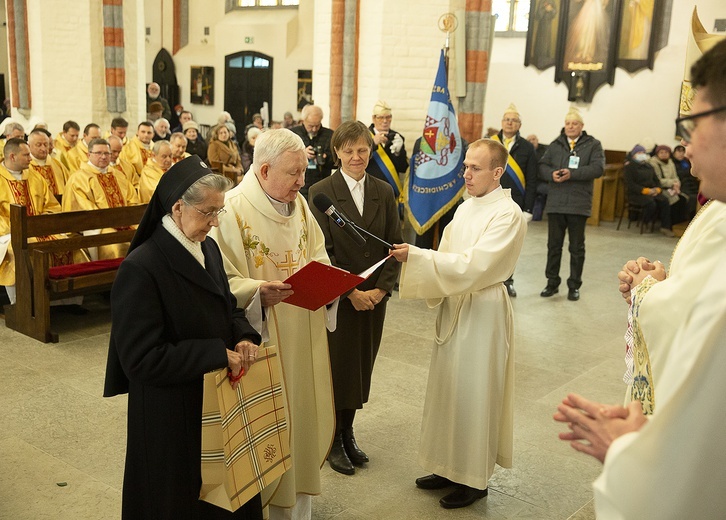
[[[400,243],[401,225],[391,186],[366,174],[373,137],[359,121],[347,121],[330,141],[338,171],[310,187],[310,200],[324,193],[358,226],[390,244]],[[357,245],[341,228],[315,206],[311,207],[325,235],[333,265],[353,273],[362,272],[388,256],[388,248],[369,238]],[[335,396],[336,432],[328,457],[330,467],[346,475],[353,464],[368,462],[353,434],[355,412],[368,401],[373,364],[378,354],[386,317],[386,302],[393,291],[399,266],[387,261],[365,282],[340,297],[338,325],[328,333],[330,365]]]

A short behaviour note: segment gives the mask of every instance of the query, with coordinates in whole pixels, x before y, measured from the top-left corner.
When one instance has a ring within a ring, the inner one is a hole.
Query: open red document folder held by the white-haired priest
[[[285,283],[292,285],[295,294],[283,301],[303,309],[316,311],[326,303],[366,280],[390,255],[372,265],[361,274],[349,273],[345,269],[321,264],[313,260],[293,274]]]

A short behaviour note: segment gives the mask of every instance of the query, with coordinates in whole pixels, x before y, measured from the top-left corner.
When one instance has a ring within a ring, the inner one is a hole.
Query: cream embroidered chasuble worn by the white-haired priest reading
[[[210,236],[222,250],[238,307],[247,308],[264,281],[285,280],[312,260],[330,265],[325,238],[305,199],[298,195],[290,206],[289,216],[278,213],[254,174],[227,192],[227,214]],[[274,493],[272,505],[292,507],[296,493],[320,494],[320,468],[335,429],[326,310],[282,302],[264,311],[268,343],[277,345],[282,364],[292,469],[262,498],[266,503]]]

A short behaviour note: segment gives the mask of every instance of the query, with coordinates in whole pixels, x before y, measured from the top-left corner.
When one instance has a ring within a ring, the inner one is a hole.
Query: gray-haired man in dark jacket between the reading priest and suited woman
[[[323,126],[323,110],[319,106],[305,105],[301,120],[302,124],[293,126],[290,131],[299,135],[305,144],[308,167],[305,172],[305,186],[300,193],[307,199],[310,186],[329,177],[333,171],[333,154],[330,151],[333,131]]]

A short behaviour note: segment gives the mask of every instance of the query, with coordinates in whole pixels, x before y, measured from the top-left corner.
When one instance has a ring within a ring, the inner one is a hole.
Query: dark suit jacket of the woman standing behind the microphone
[[[336,208],[360,227],[389,244],[402,243],[398,205],[393,197],[391,186],[385,181],[366,175],[364,191],[363,216],[358,213],[353,196],[340,171],[334,172],[330,177],[311,186],[310,199],[314,199],[318,193],[325,193]],[[361,247],[343,229],[332,224],[330,217],[322,213],[315,205],[311,205],[310,210],[323,230],[325,247],[330,262],[334,266],[357,274],[388,256],[388,248],[377,240],[367,237],[365,246]],[[357,289],[367,291],[378,287],[390,294],[398,278],[399,266],[400,264],[395,259],[389,259],[382,268],[373,273]]]

